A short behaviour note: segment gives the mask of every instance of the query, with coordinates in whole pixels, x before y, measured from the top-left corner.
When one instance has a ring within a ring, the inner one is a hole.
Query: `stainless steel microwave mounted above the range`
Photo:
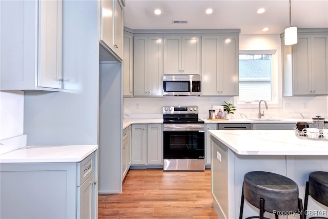
[[[164,96],[199,96],[200,75],[174,74],[163,76]]]

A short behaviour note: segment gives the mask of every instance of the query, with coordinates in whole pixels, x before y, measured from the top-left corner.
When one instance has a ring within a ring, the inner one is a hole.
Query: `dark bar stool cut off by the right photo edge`
[[[308,210],[309,194],[317,202],[328,206],[328,172],[315,171],[310,173],[309,181],[305,185],[304,212]],[[306,218],[306,214],[304,216]],[[327,217],[310,217],[327,218]]]

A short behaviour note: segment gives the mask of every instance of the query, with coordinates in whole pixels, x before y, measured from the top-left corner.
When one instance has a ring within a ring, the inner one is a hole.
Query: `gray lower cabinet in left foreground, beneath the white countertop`
[[[6,163],[0,218],[97,218],[97,151],[74,163]]]

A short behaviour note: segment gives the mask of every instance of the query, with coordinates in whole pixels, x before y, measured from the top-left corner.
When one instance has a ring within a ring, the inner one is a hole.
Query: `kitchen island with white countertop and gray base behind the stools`
[[[238,218],[243,176],[249,171],[274,172],[294,180],[304,200],[312,171],[328,171],[328,141],[300,139],[293,130],[211,130],[212,196],[220,219]],[[309,215],[328,208],[309,197]],[[259,210],[244,203],[243,218]],[[266,212],[264,216],[274,218]],[[298,217],[296,217],[298,218]]]

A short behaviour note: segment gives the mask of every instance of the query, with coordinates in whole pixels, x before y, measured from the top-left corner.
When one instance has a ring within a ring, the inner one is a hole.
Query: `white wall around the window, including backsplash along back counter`
[[[279,35],[240,35],[240,50],[277,50],[278,60],[278,81],[281,92],[281,43]],[[280,93],[281,96],[281,93]],[[162,106],[165,105],[198,105],[199,117],[207,117],[208,109],[213,105],[222,105],[223,101],[234,103],[233,97],[133,97],[124,98],[124,118],[161,118]],[[136,105],[138,104],[138,109]],[[303,107],[306,104],[306,107]],[[264,105],[264,104],[263,104]],[[237,105],[238,106],[238,105]],[[264,106],[263,106],[264,107]],[[263,109],[262,107],[262,109]],[[281,104],[269,106],[265,110],[265,116],[282,118],[312,118],[316,115],[328,118],[328,97],[281,97]],[[233,118],[257,117],[258,105],[252,108],[238,106]]]

